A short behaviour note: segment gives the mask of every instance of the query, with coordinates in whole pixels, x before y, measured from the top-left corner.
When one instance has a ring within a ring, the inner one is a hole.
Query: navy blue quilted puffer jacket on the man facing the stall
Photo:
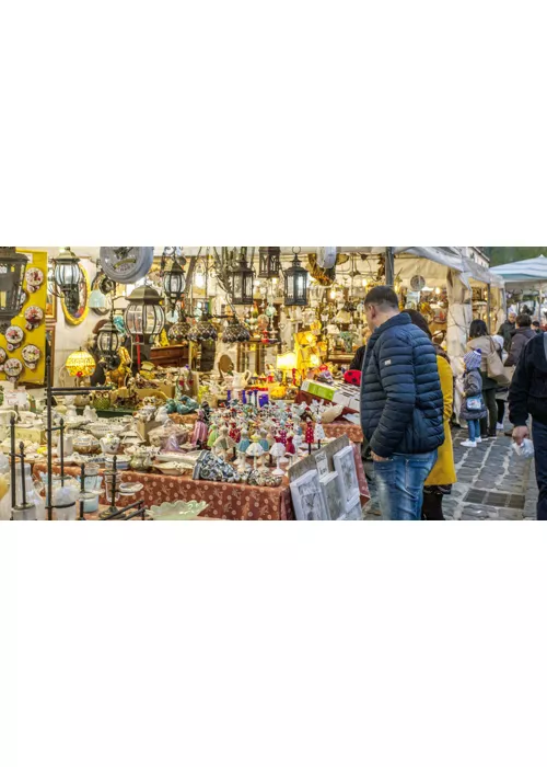
[[[444,442],[435,351],[408,314],[392,317],[366,344],[361,426],[371,449],[383,458],[429,453]]]

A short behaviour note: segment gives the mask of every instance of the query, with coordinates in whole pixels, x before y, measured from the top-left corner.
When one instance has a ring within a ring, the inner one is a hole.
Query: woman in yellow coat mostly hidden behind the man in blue
[[[407,309],[406,311],[414,324],[431,336],[426,319],[412,309]],[[452,375],[449,358],[440,347],[437,347],[437,366],[443,392],[444,442],[439,448],[437,462],[423,486],[422,519],[444,519],[442,513],[443,496],[450,493],[450,485],[456,481],[456,468],[454,466],[454,451],[452,449],[450,431],[450,419],[454,401],[454,376]]]

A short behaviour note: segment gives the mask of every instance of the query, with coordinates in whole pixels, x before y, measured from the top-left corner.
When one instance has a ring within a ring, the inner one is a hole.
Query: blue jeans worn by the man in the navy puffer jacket
[[[414,455],[395,453],[374,461],[374,478],[384,519],[421,519],[423,482],[437,460],[437,450]]]

